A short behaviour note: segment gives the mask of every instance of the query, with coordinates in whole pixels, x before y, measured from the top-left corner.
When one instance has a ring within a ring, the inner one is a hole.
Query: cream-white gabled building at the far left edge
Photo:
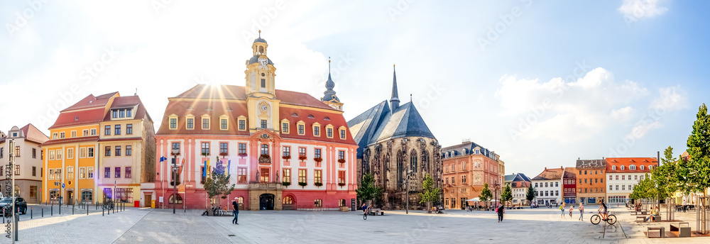
[[[0,133],[0,182],[3,194],[7,194],[6,184],[11,184],[6,176],[9,172],[6,165],[9,152],[15,153],[15,194],[18,194],[28,204],[40,202],[42,187],[42,150],[40,144],[49,140],[47,135],[39,131],[31,123],[23,128],[13,126],[3,137]],[[9,148],[9,140],[15,140],[15,148]]]

